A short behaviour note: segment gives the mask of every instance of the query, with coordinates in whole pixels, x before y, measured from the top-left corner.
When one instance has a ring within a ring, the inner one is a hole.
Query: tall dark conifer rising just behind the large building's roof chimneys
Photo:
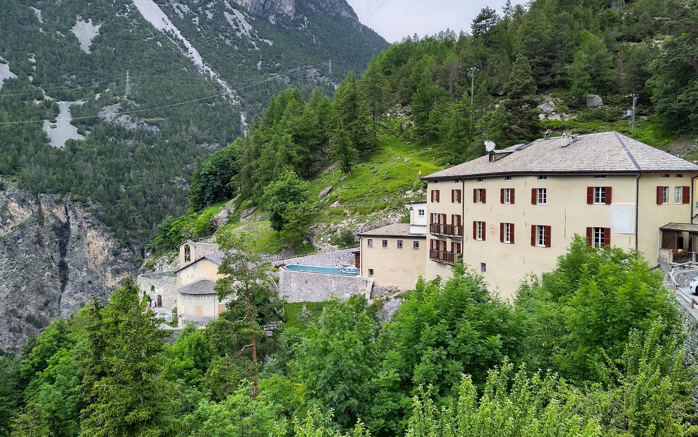
[[[504,86],[507,99],[503,106],[507,110],[507,128],[503,129],[507,140],[533,140],[540,131],[537,101],[537,87],[530,73],[528,59],[519,54],[512,66],[512,73]]]

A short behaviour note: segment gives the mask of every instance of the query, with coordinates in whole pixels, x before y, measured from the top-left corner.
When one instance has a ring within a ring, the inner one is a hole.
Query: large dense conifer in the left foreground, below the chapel
[[[162,377],[165,331],[144,312],[138,286],[127,278],[105,309],[95,299],[87,347],[80,356],[82,436],[168,436],[177,428],[177,394]]]

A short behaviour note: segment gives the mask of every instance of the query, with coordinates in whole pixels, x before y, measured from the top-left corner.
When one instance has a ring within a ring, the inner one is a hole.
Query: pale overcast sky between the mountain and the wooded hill
[[[347,0],[359,20],[389,43],[415,33],[438,34],[446,28],[470,31],[470,22],[484,6],[502,15],[506,0]],[[520,3],[520,1],[512,1]]]

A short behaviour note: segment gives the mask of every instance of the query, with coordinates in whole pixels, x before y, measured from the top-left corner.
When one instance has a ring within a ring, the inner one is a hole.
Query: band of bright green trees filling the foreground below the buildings
[[[131,281],[0,358],[3,436],[691,436],[683,317],[640,253],[575,237],[512,303],[457,263],[381,300],[285,304],[223,232],[230,302],[170,346]],[[295,306],[293,306],[295,305]],[[632,317],[628,317],[632,314]],[[283,328],[279,329],[279,322]]]

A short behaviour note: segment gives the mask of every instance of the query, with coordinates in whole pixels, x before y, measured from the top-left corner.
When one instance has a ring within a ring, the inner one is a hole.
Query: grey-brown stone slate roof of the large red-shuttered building
[[[485,155],[422,177],[425,180],[487,175],[612,173],[612,172],[695,172],[698,165],[639,142],[615,131],[579,135],[567,147],[560,137],[535,140],[527,147],[515,145],[497,150],[510,152],[497,161]],[[517,147],[520,150],[516,150]]]

